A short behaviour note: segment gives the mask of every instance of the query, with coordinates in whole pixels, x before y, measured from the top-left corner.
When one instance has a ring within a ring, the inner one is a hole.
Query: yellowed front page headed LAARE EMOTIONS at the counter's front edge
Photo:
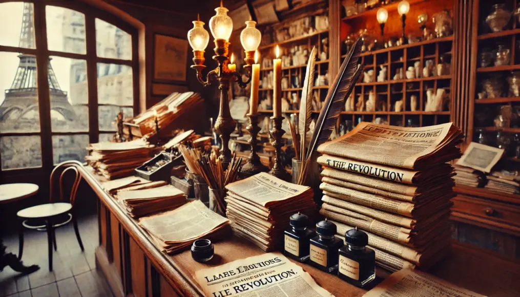
[[[195,277],[211,297],[333,296],[278,252],[202,269]]]

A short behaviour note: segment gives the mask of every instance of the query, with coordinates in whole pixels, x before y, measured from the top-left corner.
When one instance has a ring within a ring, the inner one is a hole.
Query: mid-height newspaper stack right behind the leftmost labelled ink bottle
[[[316,217],[313,191],[284,182],[265,172],[226,186],[227,217],[231,228],[264,251],[278,249],[289,217],[297,212]]]

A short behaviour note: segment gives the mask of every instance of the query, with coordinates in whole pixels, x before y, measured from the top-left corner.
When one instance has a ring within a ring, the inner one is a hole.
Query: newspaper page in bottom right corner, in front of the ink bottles
[[[419,272],[403,269],[387,277],[363,297],[485,297]]]

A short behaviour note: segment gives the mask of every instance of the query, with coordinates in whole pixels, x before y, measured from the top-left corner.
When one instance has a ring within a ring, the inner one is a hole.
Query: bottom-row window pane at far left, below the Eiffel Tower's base
[[[42,166],[40,136],[0,137],[2,170]]]

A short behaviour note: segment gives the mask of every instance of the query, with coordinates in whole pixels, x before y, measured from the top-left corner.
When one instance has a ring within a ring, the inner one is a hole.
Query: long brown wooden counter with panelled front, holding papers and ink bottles
[[[81,166],[78,162],[67,165]],[[215,243],[215,256],[207,264],[193,261],[189,251],[172,256],[163,254],[135,219],[102,189],[98,176],[88,168],[79,170],[99,198],[96,264],[106,275],[115,296],[201,296],[203,293],[193,279],[198,269],[263,253],[248,241],[232,237]],[[334,275],[297,264],[336,296],[356,297],[365,293]],[[452,255],[430,272],[488,296],[517,296],[520,292],[520,263],[460,244],[454,244]]]

